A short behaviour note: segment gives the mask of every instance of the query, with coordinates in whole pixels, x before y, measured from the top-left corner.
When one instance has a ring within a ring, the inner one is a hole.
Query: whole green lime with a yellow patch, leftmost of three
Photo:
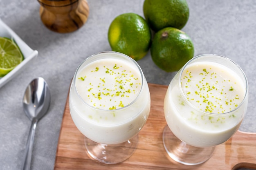
[[[151,32],[148,23],[135,13],[118,15],[108,29],[108,42],[112,51],[140,60],[150,47]]]

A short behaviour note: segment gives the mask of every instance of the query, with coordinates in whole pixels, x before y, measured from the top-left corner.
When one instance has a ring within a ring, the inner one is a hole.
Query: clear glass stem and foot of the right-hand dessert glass
[[[163,143],[169,157],[184,165],[198,165],[204,163],[211,158],[215,150],[215,146],[198,148],[186,144],[171,132],[168,125],[164,128]]]

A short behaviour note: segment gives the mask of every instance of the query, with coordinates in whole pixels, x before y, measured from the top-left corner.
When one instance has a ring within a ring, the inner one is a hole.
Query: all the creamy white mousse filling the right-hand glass
[[[247,108],[247,104],[238,108],[245,93],[245,82],[230,68],[194,62],[168,87],[164,101],[167,124],[187,144],[216,146],[238,130]]]

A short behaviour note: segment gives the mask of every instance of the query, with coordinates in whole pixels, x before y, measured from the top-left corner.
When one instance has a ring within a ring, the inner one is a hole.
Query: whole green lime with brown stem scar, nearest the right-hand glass
[[[164,71],[178,71],[194,55],[191,38],[173,27],[158,31],[150,49],[153,62]]]

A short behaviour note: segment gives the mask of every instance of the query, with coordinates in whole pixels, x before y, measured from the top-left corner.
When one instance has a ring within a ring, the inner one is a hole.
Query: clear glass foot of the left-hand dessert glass
[[[135,152],[139,141],[138,135],[121,144],[99,144],[85,137],[85,148],[88,154],[97,161],[116,164],[125,161]]]

